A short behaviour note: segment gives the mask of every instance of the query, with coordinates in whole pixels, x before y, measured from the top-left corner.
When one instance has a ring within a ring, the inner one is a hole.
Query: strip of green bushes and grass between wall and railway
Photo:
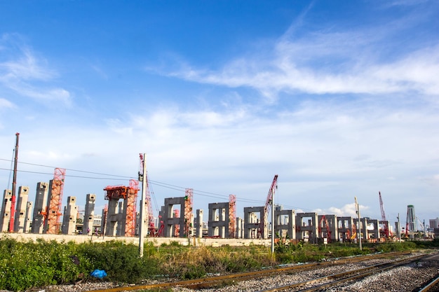
[[[4,236],[0,239],[0,290],[24,291],[51,284],[101,281],[90,276],[95,269],[105,270],[104,281],[138,283],[142,279],[178,277],[195,279],[208,274],[243,272],[285,263],[310,262],[354,256],[375,251],[404,251],[417,248],[437,248],[439,241],[394,242],[364,244],[276,244],[275,255],[266,246],[193,247],[175,242],[144,246],[144,256],[138,256],[138,246],[123,242],[18,242]]]

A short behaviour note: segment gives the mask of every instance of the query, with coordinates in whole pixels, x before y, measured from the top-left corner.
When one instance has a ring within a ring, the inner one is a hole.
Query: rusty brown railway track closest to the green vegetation
[[[170,288],[170,287],[186,287],[186,288],[208,288],[215,286],[224,286],[224,284],[230,284],[237,281],[245,281],[248,279],[255,279],[261,277],[270,277],[273,274],[278,274],[280,272],[290,273],[290,272],[303,272],[306,270],[313,270],[320,267],[328,267],[335,265],[343,265],[345,263],[358,263],[365,260],[372,260],[377,258],[388,258],[397,256],[407,256],[410,252],[393,252],[393,253],[374,253],[367,256],[356,256],[350,258],[335,258],[332,260],[327,260],[321,263],[306,263],[302,265],[286,265],[283,267],[274,267],[272,269],[258,270],[254,272],[244,272],[238,274],[227,274],[217,277],[207,277],[203,279],[191,279],[186,281],[172,281],[159,284],[147,284],[147,285],[136,285],[136,286],[121,286],[115,288],[107,288],[102,290],[93,290],[88,292],[121,292],[121,291],[136,291],[142,289],[152,289],[152,288]],[[276,290],[273,290],[276,291]]]

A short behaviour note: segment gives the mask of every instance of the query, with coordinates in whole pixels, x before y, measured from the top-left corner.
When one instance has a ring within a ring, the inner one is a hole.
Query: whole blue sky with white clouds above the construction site
[[[0,185],[439,216],[437,1],[0,0]],[[34,193],[29,200],[34,200]]]

